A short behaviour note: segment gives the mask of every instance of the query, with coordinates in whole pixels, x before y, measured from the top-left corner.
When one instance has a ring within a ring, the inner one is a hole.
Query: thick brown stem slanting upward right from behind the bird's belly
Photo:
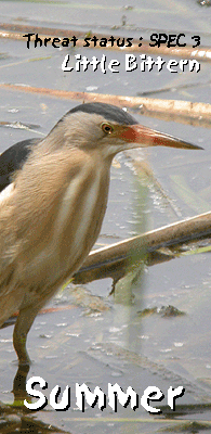
[[[92,280],[92,272],[103,278],[107,270],[114,271],[119,265],[126,267],[139,261],[144,252],[153,254],[159,248],[180,246],[210,235],[211,212],[111,244],[90,253],[75,275],[75,282]]]

